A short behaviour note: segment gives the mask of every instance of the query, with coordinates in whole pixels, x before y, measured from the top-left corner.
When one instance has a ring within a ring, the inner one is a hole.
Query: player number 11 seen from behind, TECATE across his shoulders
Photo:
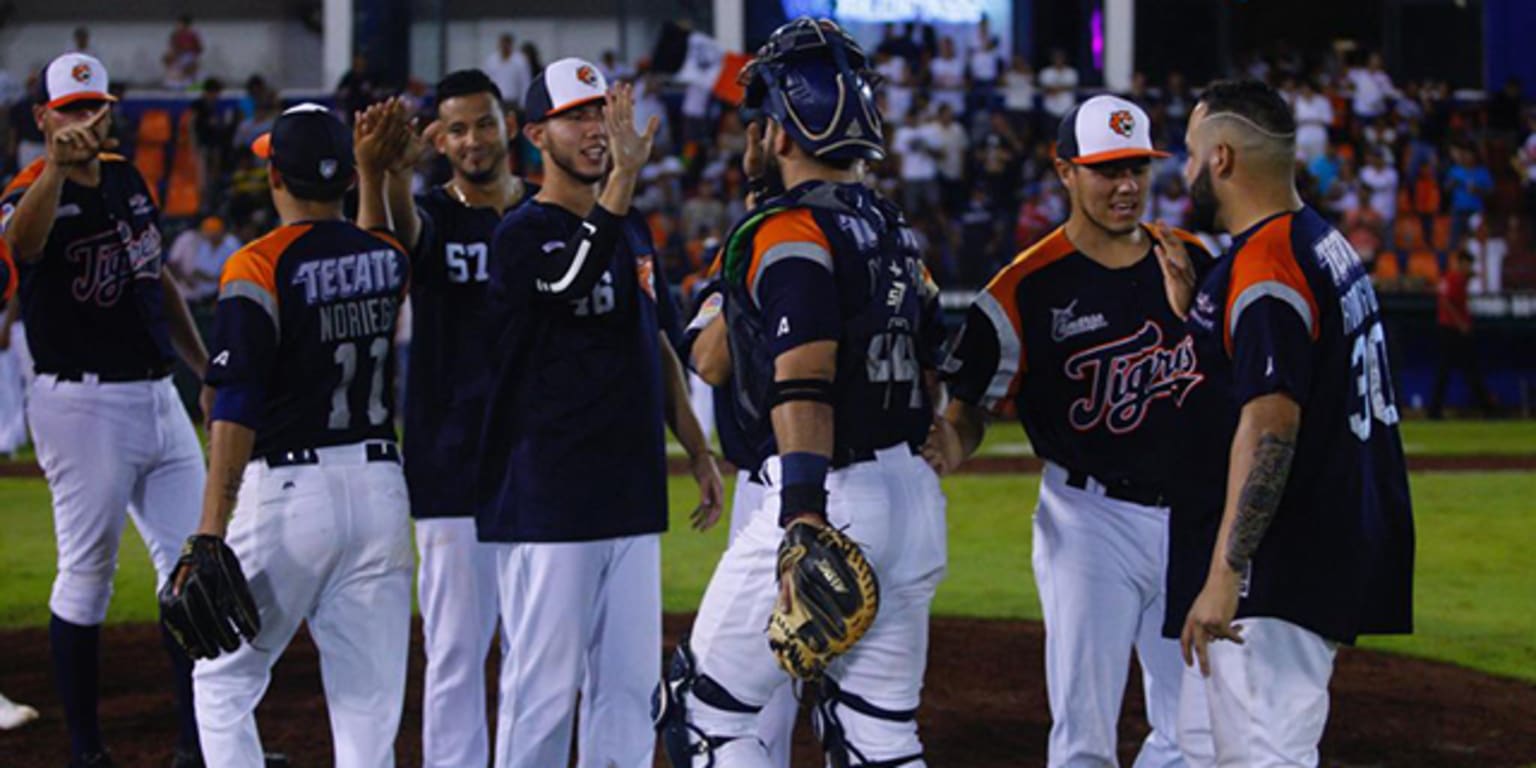
[[[293,106],[252,151],[269,160],[283,226],[235,252],[220,278],[198,535],[227,539],[260,633],[197,664],[203,750],[220,768],[263,766],[257,703],[304,621],[335,765],[392,766],[413,554],[390,339],[410,261],[390,235],[341,218],[353,141],[333,114]]]

